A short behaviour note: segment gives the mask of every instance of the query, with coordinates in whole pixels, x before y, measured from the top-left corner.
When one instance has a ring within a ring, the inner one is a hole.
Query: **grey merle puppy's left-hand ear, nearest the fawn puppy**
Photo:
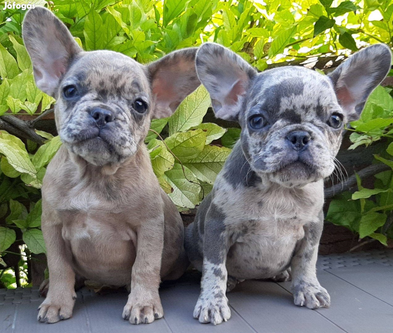
[[[205,43],[196,53],[196,73],[209,91],[217,118],[238,121],[244,95],[257,71],[233,51]]]

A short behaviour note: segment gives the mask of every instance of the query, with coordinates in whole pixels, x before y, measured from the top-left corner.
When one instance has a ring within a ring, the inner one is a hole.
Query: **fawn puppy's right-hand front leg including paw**
[[[131,324],[151,323],[163,316],[158,288],[163,249],[164,218],[146,221],[137,230],[136,259],[132,266],[131,291],[123,310]]]

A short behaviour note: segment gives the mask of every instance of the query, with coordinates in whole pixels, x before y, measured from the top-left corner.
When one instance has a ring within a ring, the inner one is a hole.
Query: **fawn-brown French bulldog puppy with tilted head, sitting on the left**
[[[182,219],[153,173],[143,142],[151,118],[170,116],[200,84],[195,49],[147,66],[113,51],[84,52],[62,22],[31,9],[23,39],[37,87],[56,98],[63,145],[42,186],[49,290],[38,320],[70,318],[75,276],[129,286],[123,318],[163,316],[160,279],[186,266]]]

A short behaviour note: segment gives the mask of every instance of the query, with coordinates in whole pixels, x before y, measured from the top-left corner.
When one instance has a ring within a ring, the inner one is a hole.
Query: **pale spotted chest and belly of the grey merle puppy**
[[[213,202],[222,207],[225,232],[233,242],[226,260],[228,275],[269,278],[288,268],[296,244],[304,238],[304,226],[318,221],[322,185],[266,190],[261,184],[232,191],[219,179]]]

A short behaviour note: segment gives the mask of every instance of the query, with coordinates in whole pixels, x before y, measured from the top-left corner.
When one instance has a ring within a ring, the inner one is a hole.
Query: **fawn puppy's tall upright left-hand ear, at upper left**
[[[67,27],[44,7],[35,7],[26,13],[22,34],[37,87],[55,97],[62,75],[82,49]]]

